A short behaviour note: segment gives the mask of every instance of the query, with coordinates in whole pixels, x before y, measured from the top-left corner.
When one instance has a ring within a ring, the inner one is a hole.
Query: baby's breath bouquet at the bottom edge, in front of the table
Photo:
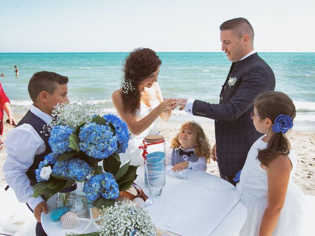
[[[115,203],[100,216],[100,236],[156,236],[148,212],[134,204]]]

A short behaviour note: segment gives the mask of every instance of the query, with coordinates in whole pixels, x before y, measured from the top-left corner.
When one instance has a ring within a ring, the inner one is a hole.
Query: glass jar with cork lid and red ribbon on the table
[[[155,165],[155,171],[162,172],[163,185],[165,185],[165,139],[163,135],[148,135],[143,139],[142,157],[144,158],[145,165],[147,162],[159,162],[161,164]],[[162,161],[162,162],[161,162]],[[147,167],[144,168],[144,184],[149,187],[147,177]]]

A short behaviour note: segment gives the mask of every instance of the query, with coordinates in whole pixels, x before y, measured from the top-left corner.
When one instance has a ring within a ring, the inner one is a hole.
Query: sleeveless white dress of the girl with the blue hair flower
[[[261,220],[268,203],[267,172],[261,168],[260,161],[256,158],[259,149],[265,149],[267,143],[259,138],[250,149],[245,165],[242,169],[240,182],[236,189],[241,201],[248,209],[247,221],[240,232],[240,236],[258,236]],[[297,160],[294,152],[288,155],[292,163],[292,171],[287,188],[284,207],[281,211],[277,227],[273,236],[298,236],[301,234],[301,220],[303,219],[301,191],[293,183]]]

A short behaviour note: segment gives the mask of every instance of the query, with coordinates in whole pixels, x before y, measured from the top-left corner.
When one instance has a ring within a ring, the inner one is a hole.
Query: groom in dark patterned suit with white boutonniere
[[[275,75],[254,50],[254,31],[247,19],[225,21],[220,30],[221,50],[232,65],[219,104],[180,98],[172,108],[179,105],[194,116],[215,119],[214,160],[220,177],[236,185],[233,177],[243,168],[252,144],[262,136],[250,117],[253,102],[260,93],[275,89]]]

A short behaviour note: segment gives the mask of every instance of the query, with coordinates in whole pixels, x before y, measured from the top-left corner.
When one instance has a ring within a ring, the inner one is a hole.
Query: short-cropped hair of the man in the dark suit
[[[254,29],[252,29],[251,23],[245,18],[234,18],[223,22],[220,26],[221,31],[229,29],[231,29],[235,36],[237,36],[239,39],[242,38],[245,34],[248,34],[252,42],[254,40]]]

